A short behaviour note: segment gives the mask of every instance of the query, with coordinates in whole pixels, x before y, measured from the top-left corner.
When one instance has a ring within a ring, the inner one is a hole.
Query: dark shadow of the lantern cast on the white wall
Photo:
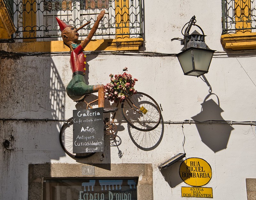
[[[217,97],[218,104],[213,99],[207,100],[211,95]],[[221,121],[225,120],[221,116],[221,113],[224,111],[220,108],[218,96],[210,92],[201,105],[201,112],[191,118],[197,122],[209,121],[209,123],[196,123],[196,128],[202,142],[215,153],[226,149],[229,136],[234,128],[227,123],[221,123]],[[220,123],[211,123],[211,121],[218,121]]]

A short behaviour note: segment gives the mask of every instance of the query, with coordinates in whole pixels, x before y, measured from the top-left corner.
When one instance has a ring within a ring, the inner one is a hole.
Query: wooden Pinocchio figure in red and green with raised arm
[[[73,76],[66,88],[67,94],[72,100],[79,101],[82,100],[86,94],[98,92],[99,107],[104,107],[104,85],[87,85],[85,83],[84,75],[86,70],[86,56],[84,55],[83,50],[92,40],[92,36],[96,32],[100,20],[103,18],[104,14],[105,10],[100,12],[87,38],[85,38],[84,41],[82,41],[79,45],[77,44],[79,36],[77,31],[89,24],[90,22],[87,22],[85,25],[76,29],[75,27],[56,17],[57,22],[60,26],[63,42],[71,49],[70,65]]]

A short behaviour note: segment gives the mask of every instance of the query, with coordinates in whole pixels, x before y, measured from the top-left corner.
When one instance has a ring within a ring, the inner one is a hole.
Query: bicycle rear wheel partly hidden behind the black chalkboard
[[[60,129],[60,144],[71,158],[88,158],[95,153],[73,153],[73,117],[69,118]]]

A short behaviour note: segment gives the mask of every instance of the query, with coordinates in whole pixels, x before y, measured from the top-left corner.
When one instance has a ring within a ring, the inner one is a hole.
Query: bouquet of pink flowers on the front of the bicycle
[[[127,67],[123,69],[122,74],[109,74],[111,82],[104,86],[105,99],[118,102],[118,100],[124,100],[136,93],[134,85],[138,79],[132,79],[132,75],[125,71],[127,71]]]

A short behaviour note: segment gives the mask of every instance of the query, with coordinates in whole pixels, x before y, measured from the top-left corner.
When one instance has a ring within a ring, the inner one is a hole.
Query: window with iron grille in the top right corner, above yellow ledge
[[[222,34],[256,32],[256,1],[222,0]]]

